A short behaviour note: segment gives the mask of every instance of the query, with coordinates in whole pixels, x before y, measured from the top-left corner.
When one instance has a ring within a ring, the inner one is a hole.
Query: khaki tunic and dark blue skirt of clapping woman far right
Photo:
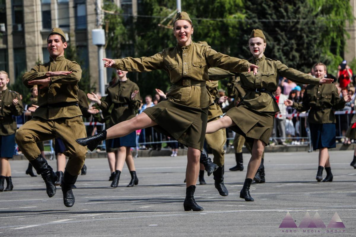
[[[309,110],[308,122],[313,149],[336,147],[336,118],[334,110],[345,107],[334,84],[309,85],[303,95],[303,103],[293,102],[298,112]]]

